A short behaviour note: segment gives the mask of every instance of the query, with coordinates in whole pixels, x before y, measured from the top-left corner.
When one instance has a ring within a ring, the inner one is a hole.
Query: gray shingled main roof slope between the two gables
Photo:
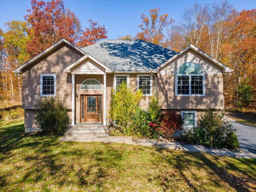
[[[82,50],[114,71],[151,71],[177,52],[143,40],[104,40]]]

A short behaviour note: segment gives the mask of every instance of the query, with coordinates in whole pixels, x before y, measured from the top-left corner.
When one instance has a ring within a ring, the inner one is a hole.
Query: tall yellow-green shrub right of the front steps
[[[136,109],[140,106],[142,91],[138,90],[135,94],[127,88],[125,82],[120,85],[120,90],[112,90],[111,103],[109,110],[110,124],[120,132],[131,134],[130,123]]]

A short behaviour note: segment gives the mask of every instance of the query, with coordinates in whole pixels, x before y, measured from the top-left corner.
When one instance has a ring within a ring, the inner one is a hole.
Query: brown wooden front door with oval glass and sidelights
[[[81,95],[81,122],[102,122],[102,96]]]

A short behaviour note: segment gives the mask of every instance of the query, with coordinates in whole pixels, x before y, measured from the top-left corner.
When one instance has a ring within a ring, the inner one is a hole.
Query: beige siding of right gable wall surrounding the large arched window
[[[205,75],[205,96],[175,96],[175,74],[185,62],[200,65]],[[189,50],[159,70],[158,98],[165,100],[163,109],[196,110],[223,108],[222,70]]]

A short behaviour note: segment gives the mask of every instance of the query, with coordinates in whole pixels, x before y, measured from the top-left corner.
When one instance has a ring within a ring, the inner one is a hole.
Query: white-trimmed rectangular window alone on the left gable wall
[[[56,74],[40,75],[40,96],[56,96]]]

